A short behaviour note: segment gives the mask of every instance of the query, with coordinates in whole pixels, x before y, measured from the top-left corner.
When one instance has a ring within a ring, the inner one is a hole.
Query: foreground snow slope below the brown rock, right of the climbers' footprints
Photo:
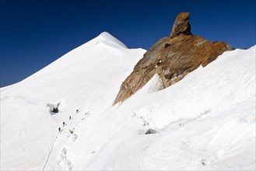
[[[73,169],[255,169],[255,47],[152,92],[159,81],[86,118],[68,146]],[[144,134],[149,128],[160,133]]]

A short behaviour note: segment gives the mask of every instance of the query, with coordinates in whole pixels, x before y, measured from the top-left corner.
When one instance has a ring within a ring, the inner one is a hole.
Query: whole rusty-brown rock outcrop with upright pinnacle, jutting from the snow
[[[224,51],[233,50],[224,42],[212,43],[202,37],[192,36],[188,18],[188,12],[180,13],[170,37],[158,40],[144,54],[132,74],[122,83],[114,104],[132,96],[155,74],[160,75],[166,88],[183,79],[199,65],[205,67]]]

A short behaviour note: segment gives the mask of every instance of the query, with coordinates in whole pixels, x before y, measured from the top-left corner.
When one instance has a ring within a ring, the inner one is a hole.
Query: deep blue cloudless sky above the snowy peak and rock
[[[19,82],[107,31],[129,48],[170,35],[179,12],[191,31],[236,48],[255,44],[255,0],[0,0],[1,87]]]

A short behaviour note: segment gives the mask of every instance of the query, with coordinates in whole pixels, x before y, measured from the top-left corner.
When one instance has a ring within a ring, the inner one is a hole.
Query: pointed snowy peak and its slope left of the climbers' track
[[[101,33],[22,82],[1,89],[1,168],[42,169],[62,122],[76,109],[107,105],[106,96],[113,102],[118,84],[144,53]],[[61,103],[62,112],[52,115],[47,103]]]

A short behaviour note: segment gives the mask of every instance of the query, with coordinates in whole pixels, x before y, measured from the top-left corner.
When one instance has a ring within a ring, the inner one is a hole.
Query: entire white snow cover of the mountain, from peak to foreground
[[[255,169],[255,48],[112,106],[146,51],[101,33],[1,89],[1,169]]]

